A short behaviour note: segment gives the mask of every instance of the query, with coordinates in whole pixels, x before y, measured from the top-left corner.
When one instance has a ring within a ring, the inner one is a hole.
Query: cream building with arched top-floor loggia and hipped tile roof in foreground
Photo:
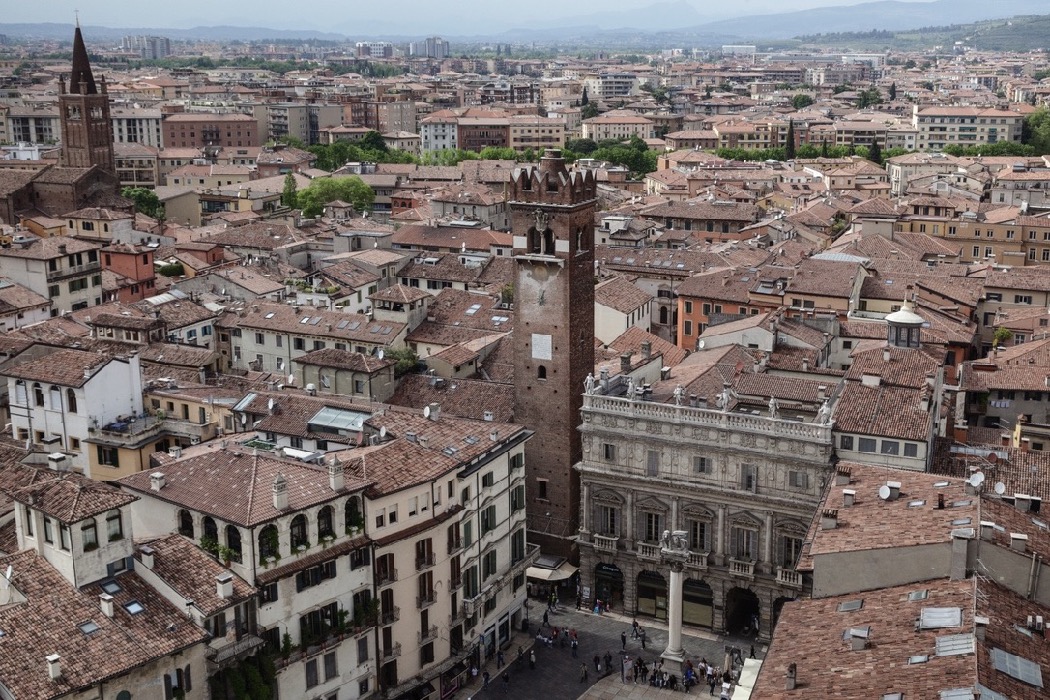
[[[257,603],[212,618],[246,653],[275,653],[277,695],[353,700],[375,688],[372,560],[361,536],[364,483],[240,446],[202,446],[120,481],[140,499],[140,537],[200,543]],[[207,488],[201,486],[207,484]],[[239,611],[239,612],[238,612]],[[232,618],[232,619],[231,619]]]

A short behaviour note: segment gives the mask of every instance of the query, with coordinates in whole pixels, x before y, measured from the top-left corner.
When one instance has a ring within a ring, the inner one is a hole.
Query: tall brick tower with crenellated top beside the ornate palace
[[[536,431],[525,473],[529,540],[575,561],[582,458],[580,408],[594,370],[594,208],[590,172],[561,151],[509,185],[514,261],[514,420]]]

